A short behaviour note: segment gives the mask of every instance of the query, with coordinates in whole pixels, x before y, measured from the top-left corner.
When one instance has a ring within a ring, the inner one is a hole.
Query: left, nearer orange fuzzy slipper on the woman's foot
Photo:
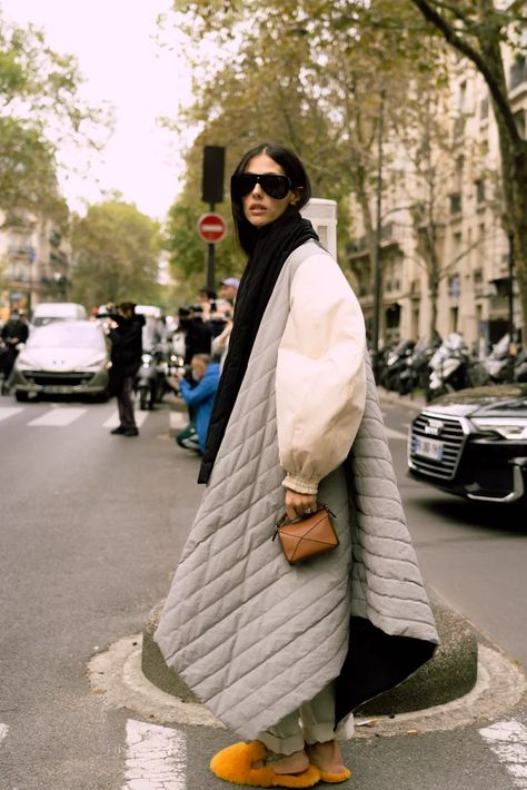
[[[253,762],[265,760],[266,756],[267,749],[260,741],[240,741],[215,754],[210,770],[218,779],[252,788],[312,788],[320,781],[320,771],[315,766],[302,773],[276,773],[271,766],[252,768]]]

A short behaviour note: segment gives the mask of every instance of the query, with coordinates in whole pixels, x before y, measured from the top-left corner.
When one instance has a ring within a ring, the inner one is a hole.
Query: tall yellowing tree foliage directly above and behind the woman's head
[[[199,140],[225,145],[230,169],[243,150],[269,137],[290,146],[306,162],[317,197],[345,206],[350,191],[357,195],[374,256],[380,92],[388,88],[386,117],[399,116],[402,124],[415,65],[431,60],[408,37],[408,18],[419,20],[415,10],[406,4],[397,17],[386,0],[377,0],[375,14],[359,2],[319,0],[175,2],[173,8],[185,10],[176,23],[186,28],[196,51],[197,101],[187,120],[201,126]],[[389,13],[387,34],[376,19]],[[217,57],[201,58],[205,47]],[[339,230],[348,227],[342,211]]]

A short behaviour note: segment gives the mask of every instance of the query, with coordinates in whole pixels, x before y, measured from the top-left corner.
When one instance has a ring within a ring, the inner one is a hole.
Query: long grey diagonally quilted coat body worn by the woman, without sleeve
[[[284,512],[275,375],[297,268],[286,261],[156,632],[167,663],[228,727],[251,739],[337,680],[337,721],[396,685],[438,642],[367,365],[351,452],[319,486],[336,552],[299,566],[274,524]]]

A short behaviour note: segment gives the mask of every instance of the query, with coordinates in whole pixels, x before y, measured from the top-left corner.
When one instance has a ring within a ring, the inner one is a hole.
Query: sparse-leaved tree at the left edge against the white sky
[[[57,151],[66,137],[97,147],[101,110],[78,95],[81,77],[71,56],[50,49],[42,31],[4,20],[0,11],[0,208],[53,213]],[[106,122],[106,121],[105,121]]]

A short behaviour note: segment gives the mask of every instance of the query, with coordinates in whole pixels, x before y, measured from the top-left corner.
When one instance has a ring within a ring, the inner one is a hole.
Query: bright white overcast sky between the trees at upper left
[[[163,219],[179,189],[181,162],[176,137],[156,119],[175,118],[190,95],[185,48],[169,52],[153,40],[156,17],[170,0],[0,0],[0,8],[8,20],[43,28],[54,50],[76,55],[83,95],[115,106],[116,132],[103,154],[81,178],[61,179],[70,206],[82,211],[82,201],[118,189]]]

